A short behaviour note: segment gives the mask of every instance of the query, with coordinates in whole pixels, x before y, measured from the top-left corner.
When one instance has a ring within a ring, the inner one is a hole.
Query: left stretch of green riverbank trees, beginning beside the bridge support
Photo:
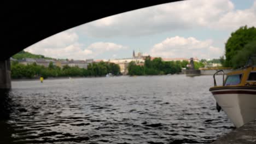
[[[87,69],[79,67],[69,67],[68,65],[63,68],[57,67],[50,62],[49,67],[43,65],[33,64],[20,64],[18,62],[11,62],[11,78],[37,78],[39,76],[47,77],[67,77],[67,76],[105,76],[108,73],[113,75],[120,74],[120,67],[114,63],[92,63],[88,65]]]

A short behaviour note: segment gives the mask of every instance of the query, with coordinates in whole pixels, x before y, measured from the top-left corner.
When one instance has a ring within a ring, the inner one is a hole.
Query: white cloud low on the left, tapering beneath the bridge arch
[[[118,51],[127,47],[114,43],[93,43],[84,48],[83,44],[78,42],[77,33],[68,30],[55,34],[38,43],[31,45],[25,51],[44,55],[53,58],[68,58],[68,59],[87,59],[94,58],[108,51]]]

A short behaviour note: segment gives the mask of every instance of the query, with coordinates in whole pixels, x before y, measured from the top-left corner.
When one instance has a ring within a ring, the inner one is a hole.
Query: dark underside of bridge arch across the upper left
[[[181,0],[85,1],[83,3],[44,1],[43,3],[25,3],[21,1],[1,4],[3,39],[0,60],[8,59],[15,53],[53,34],[86,22],[174,1]]]

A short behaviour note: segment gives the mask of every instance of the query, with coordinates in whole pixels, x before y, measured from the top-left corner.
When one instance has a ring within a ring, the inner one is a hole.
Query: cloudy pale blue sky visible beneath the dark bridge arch
[[[82,17],[81,17],[82,19]],[[113,59],[132,51],[162,58],[219,58],[240,26],[256,26],[256,0],[188,0],[105,17],[25,51],[54,58]]]

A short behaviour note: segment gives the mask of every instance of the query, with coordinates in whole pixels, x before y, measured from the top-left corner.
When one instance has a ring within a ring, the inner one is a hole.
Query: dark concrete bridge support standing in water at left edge
[[[0,61],[0,89],[11,88],[10,59]]]

